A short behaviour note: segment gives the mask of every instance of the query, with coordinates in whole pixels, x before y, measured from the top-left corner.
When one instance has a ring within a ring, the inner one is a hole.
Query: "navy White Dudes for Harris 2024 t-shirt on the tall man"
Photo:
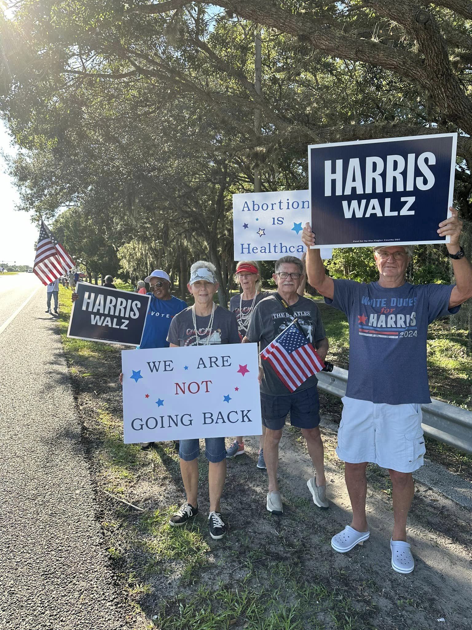
[[[452,285],[413,285],[385,289],[334,280],[334,299],[349,321],[349,378],[346,396],[372,403],[430,403],[426,367],[428,324],[449,311]]]

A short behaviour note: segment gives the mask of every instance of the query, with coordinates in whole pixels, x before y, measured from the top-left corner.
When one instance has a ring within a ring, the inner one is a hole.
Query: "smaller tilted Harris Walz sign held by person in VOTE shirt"
[[[149,309],[149,295],[79,282],[68,337],[138,346]]]

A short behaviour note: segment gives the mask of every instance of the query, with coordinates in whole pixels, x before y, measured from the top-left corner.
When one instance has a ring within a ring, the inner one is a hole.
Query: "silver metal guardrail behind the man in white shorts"
[[[346,396],[347,370],[334,367],[332,372],[319,372],[318,387],[334,396]],[[472,454],[472,411],[432,398],[423,404],[422,428],[425,435],[456,449]]]

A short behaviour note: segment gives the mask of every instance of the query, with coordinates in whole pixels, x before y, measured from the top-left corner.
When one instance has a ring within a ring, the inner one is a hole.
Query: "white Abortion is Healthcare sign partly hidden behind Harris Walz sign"
[[[306,251],[301,231],[311,221],[310,191],[233,195],[234,260],[278,260]],[[322,258],[332,258],[323,249]]]

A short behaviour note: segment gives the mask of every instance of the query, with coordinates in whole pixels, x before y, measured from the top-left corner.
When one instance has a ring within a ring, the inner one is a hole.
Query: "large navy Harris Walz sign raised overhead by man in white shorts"
[[[316,248],[449,243],[457,134],[308,147]]]

